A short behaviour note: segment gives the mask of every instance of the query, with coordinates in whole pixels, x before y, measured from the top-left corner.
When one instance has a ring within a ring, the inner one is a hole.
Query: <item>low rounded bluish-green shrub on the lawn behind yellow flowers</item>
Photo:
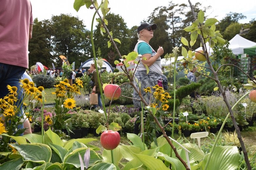
[[[42,75],[38,74],[32,77],[33,82],[36,84],[37,87],[43,86],[45,89],[46,88],[52,88],[54,85],[54,78],[47,76],[47,75]]]

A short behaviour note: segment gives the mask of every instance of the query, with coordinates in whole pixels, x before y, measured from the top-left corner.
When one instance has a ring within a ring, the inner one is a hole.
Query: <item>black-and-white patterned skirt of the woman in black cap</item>
[[[151,92],[154,92],[154,89],[152,87],[157,85],[157,81],[161,78],[161,75],[152,71],[149,71],[148,74],[147,71],[136,71],[135,77],[138,78],[139,82],[141,82],[141,94],[143,98],[148,104],[152,103],[154,101],[154,99],[152,99],[152,93],[146,93],[143,89],[150,87]],[[139,84],[137,84],[135,81],[134,83],[139,91]],[[139,94],[135,90],[133,90],[133,98],[140,99]],[[135,108],[141,108],[141,101],[133,99],[133,105]]]

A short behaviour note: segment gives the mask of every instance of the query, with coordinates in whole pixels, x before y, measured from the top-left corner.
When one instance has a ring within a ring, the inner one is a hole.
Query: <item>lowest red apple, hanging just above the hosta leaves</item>
[[[100,135],[100,143],[106,150],[113,150],[120,143],[120,135],[117,131],[106,130]]]

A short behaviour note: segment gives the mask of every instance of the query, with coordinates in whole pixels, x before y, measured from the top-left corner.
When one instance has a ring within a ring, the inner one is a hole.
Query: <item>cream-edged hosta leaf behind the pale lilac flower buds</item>
[[[67,153],[67,155],[64,157],[64,160],[63,162],[64,163],[69,163],[69,164],[72,164],[74,165],[76,168],[79,168],[81,165],[80,165],[80,161],[79,161],[79,156],[78,156],[78,153],[80,153],[80,155],[82,157],[84,157],[85,155],[85,152],[86,152],[86,147],[82,147],[82,148],[78,148],[76,150],[73,150],[72,152],[70,153]],[[94,165],[95,163],[99,162],[99,161],[102,161],[100,159],[100,157],[98,156],[98,154],[90,149],[90,161],[89,161],[89,166],[92,166]]]

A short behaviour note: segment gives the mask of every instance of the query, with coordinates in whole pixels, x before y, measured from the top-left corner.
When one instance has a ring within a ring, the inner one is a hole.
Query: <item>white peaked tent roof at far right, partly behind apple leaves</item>
[[[238,54],[244,54],[244,48],[249,48],[252,47],[254,45],[256,45],[256,42],[252,42],[250,40],[247,40],[243,37],[241,37],[240,35],[236,34],[236,36],[234,36],[230,41],[229,41],[229,46],[228,48],[232,50],[234,55],[238,55]],[[209,43],[206,43],[206,47],[207,47],[207,51],[209,50]],[[198,50],[202,50],[202,47],[199,47],[196,49],[196,51]],[[211,55],[212,53],[212,48],[210,49],[210,53],[209,55]]]

